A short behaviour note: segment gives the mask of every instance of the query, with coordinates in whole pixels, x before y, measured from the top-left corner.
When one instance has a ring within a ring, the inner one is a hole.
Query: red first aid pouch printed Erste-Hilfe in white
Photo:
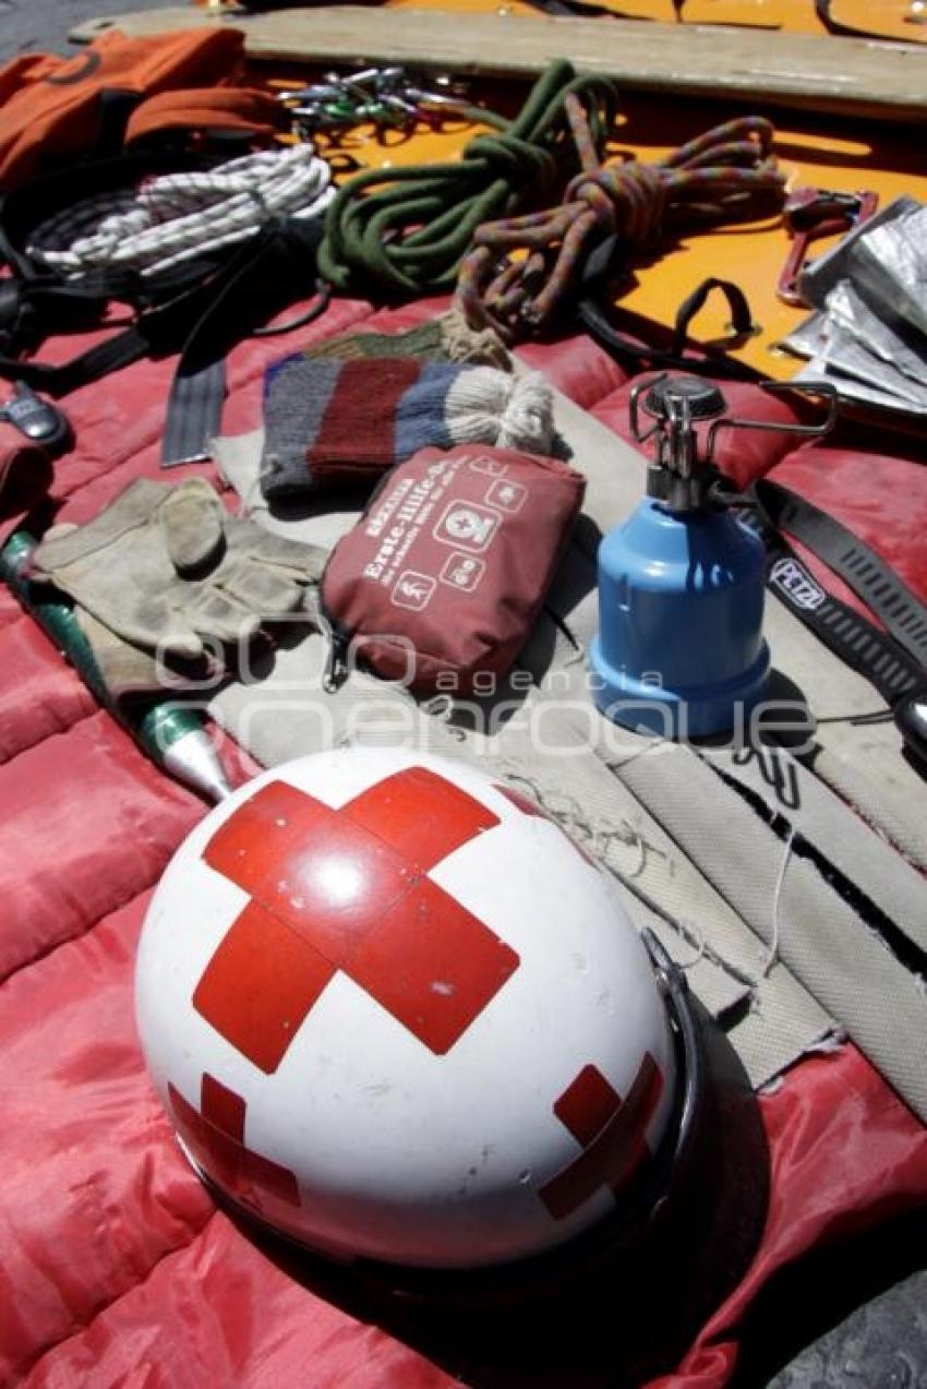
[[[322,575],[330,678],[350,650],[419,693],[488,693],[477,676],[523,646],[584,489],[568,464],[479,444],[393,468]]]

